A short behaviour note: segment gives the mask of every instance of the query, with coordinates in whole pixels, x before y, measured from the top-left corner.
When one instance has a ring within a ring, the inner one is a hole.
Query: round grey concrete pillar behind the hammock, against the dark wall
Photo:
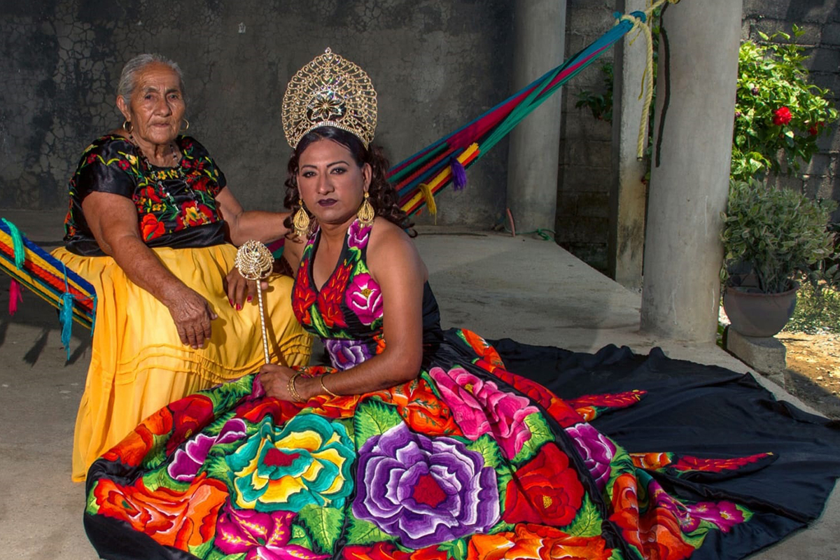
[[[563,62],[565,0],[517,0],[513,89],[518,91]],[[560,93],[511,133],[507,153],[507,207],[517,232],[554,229],[560,144]]]

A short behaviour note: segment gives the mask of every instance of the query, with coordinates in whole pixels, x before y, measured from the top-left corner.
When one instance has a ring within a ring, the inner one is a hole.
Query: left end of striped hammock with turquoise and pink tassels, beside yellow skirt
[[[67,349],[69,359],[72,322],[93,328],[97,305],[93,286],[29,241],[5,218],[0,218],[0,269],[10,275],[13,282],[26,286],[59,310],[61,343]],[[9,296],[9,311],[16,310],[19,291],[16,293],[15,288],[11,288]]]

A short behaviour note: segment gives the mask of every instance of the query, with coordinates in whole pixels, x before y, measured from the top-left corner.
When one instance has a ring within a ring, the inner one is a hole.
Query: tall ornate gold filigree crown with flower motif
[[[376,129],[376,91],[370,77],[329,49],[291,77],[283,96],[283,132],[291,149],[318,127],[352,133],[365,148]]]

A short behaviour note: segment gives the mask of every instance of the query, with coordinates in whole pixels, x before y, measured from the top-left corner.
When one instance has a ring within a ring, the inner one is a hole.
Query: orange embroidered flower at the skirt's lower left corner
[[[202,473],[184,492],[165,486],[151,491],[143,479],[127,487],[102,479],[93,495],[99,515],[126,521],[160,544],[186,551],[215,536],[218,510],[228,498],[228,487]]]

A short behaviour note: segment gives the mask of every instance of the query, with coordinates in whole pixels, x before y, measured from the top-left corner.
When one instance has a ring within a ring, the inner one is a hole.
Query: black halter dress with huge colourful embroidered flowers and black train
[[[386,347],[369,236],[349,228],[321,290],[318,235],[304,249],[293,309],[333,364],[307,374]],[[505,340],[502,358],[473,332],[441,330],[428,285],[423,322],[423,367],[390,390],[292,403],[249,375],[151,416],[91,469],[85,524],[97,552],[740,558],[816,517],[840,473],[837,429],[748,376],[614,347]]]

